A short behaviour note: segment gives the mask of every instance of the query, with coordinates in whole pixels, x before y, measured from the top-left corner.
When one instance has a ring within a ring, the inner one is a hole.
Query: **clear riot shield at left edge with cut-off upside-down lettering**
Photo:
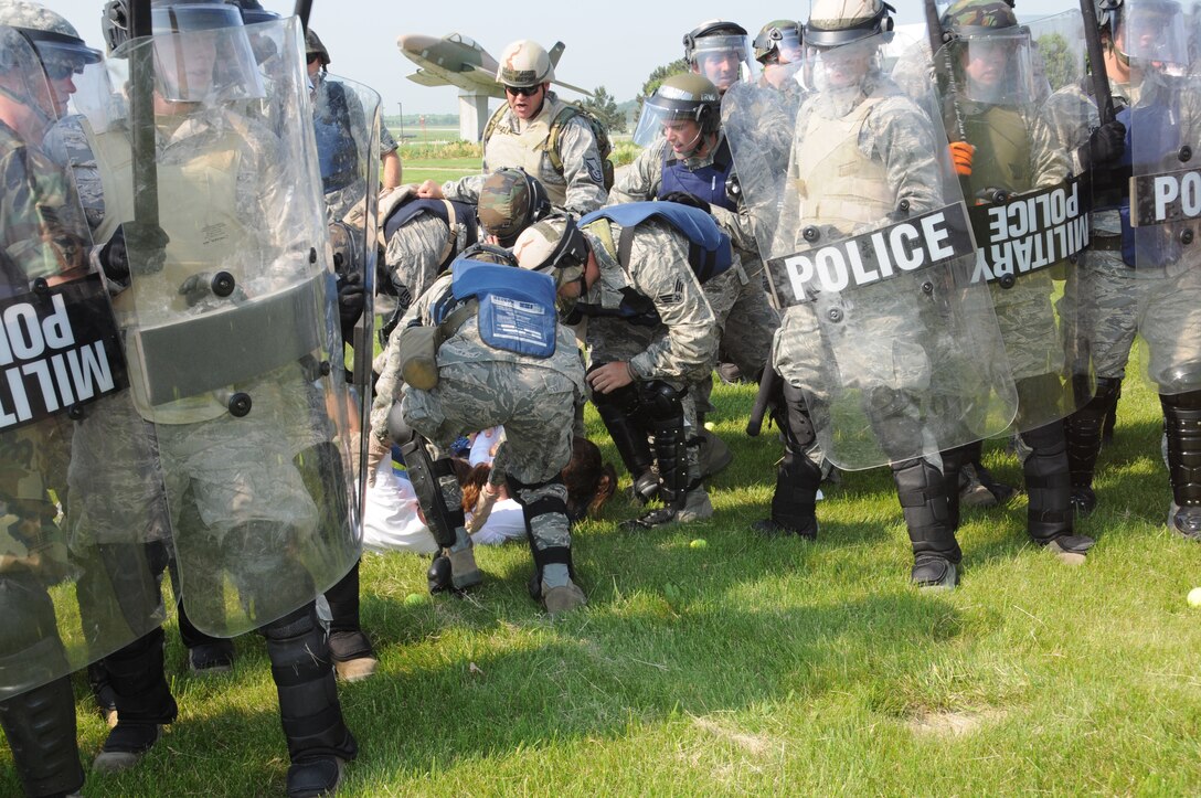
[[[0,28],[0,698],[66,676],[162,623],[165,558],[153,493],[101,496],[156,481],[153,461],[116,456],[147,445],[123,426],[129,380],[108,292],[91,271],[91,236],[68,168],[43,149],[73,90],[23,34]],[[83,65],[78,65],[83,68]],[[49,71],[48,71],[49,67]],[[97,430],[113,434],[96,436]],[[80,440],[102,450],[82,450]],[[103,469],[98,480],[89,468]],[[82,478],[82,479],[80,479]],[[161,492],[160,492],[161,493]],[[116,524],[139,504],[141,524]],[[142,503],[144,502],[144,504]]]

